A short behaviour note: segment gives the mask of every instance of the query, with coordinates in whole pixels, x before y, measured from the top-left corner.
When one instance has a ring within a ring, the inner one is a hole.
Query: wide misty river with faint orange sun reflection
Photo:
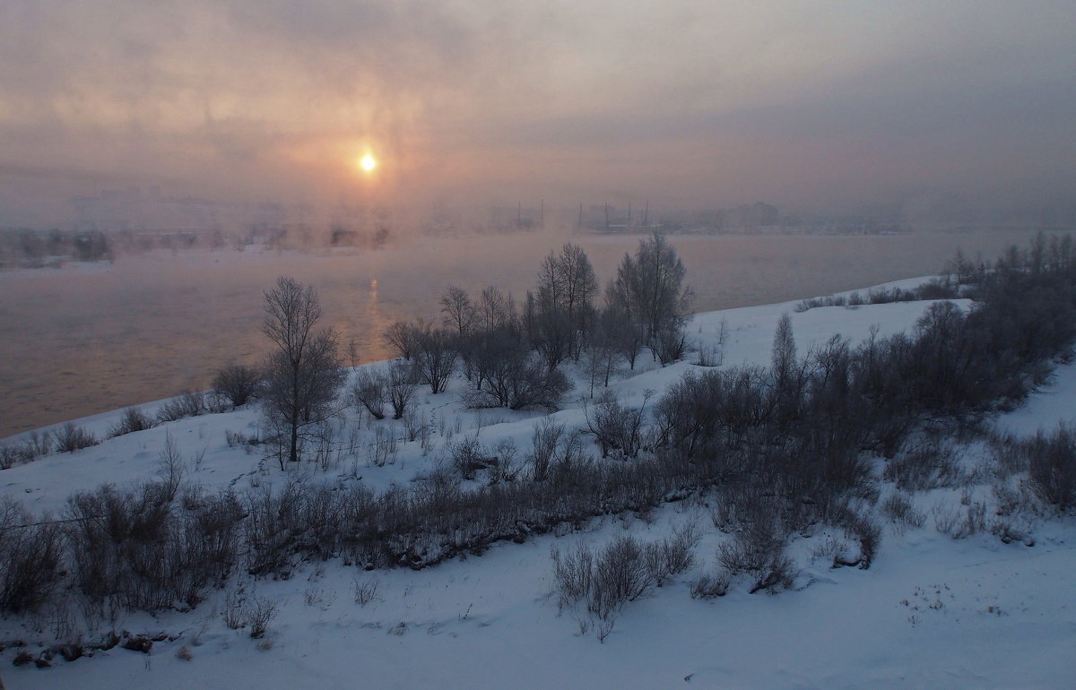
[[[938,272],[961,248],[995,258],[1029,233],[723,235],[669,238],[695,291],[693,311],[763,304]],[[449,284],[487,285],[518,302],[541,259],[565,241],[583,247],[603,285],[638,235],[552,233],[415,238],[349,253],[158,251],[114,263],[0,273],[0,437],[209,387],[229,361],[267,351],[263,291],[279,275],[314,284],[325,322],[354,341],[359,361],[391,355],[381,336],[398,319],[434,316]]]

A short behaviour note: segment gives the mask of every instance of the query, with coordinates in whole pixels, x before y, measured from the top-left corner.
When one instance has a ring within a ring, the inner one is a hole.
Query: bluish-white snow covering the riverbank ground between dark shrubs
[[[908,286],[920,279],[889,284]],[[689,334],[716,341],[724,322],[725,365],[766,364],[774,328],[792,317],[801,356],[812,343],[841,333],[853,343],[877,327],[880,335],[910,329],[930,302],[818,307],[794,313],[794,303],[696,315]],[[966,304],[964,304],[966,306]],[[695,355],[689,356],[693,361]],[[662,391],[691,363],[657,368],[640,358],[636,372],[611,388],[639,404]],[[382,364],[368,364],[379,366]],[[209,488],[278,485],[296,472],[353,481],[377,490],[407,485],[444,456],[444,446],[478,434],[483,444],[511,439],[527,447],[538,413],[468,411],[458,403],[463,384],[421,401],[423,418],[438,430],[433,448],[400,443],[392,461],[373,466],[364,452],[341,452],[327,466],[308,463],[283,473],[229,446],[227,434],[253,434],[255,408],[207,415],[109,440],[73,454],[54,455],[0,472],[0,491],[34,513],[58,514],[67,497],[102,483],[153,478],[171,439],[186,459],[185,476]],[[580,380],[572,402],[554,415],[568,427],[585,425]],[[161,402],[142,405],[154,414]],[[356,412],[342,430],[350,435]],[[103,437],[121,412],[79,420]],[[1076,416],[1076,365],[1060,366],[1022,407],[992,420],[1015,434],[1050,429]],[[356,439],[402,422],[364,420]],[[9,440],[11,441],[11,440]],[[520,462],[521,460],[518,460]],[[985,449],[963,454],[966,465],[988,463]],[[891,487],[880,483],[882,494]],[[268,598],[279,606],[264,639],[226,627],[228,592],[214,592],[192,613],[157,617],[121,613],[117,630],[168,633],[151,653],[118,647],[53,667],[13,667],[12,641],[51,639],[56,621],[0,621],[8,649],[0,677],[8,688],[775,688],[775,687],[1073,687],[1076,678],[1076,522],[1040,514],[1025,518],[1033,538],[1003,544],[989,532],[955,540],[936,529],[939,516],[962,501],[990,506],[989,483],[915,494],[926,516],[921,528],[887,524],[868,570],[830,567],[826,530],[790,544],[799,574],[791,590],[749,594],[733,584],[722,598],[692,599],[691,583],[713,570],[714,551],[727,538],[704,500],[668,504],[652,513],[593,519],[524,544],[496,545],[481,557],[455,559],[423,571],[362,572],[339,561],[306,563],[286,581],[238,578],[231,590]],[[627,603],[611,633],[599,642],[589,621],[563,610],[554,591],[551,548],[604,544],[632,533],[667,535],[693,522],[703,534],[696,565]],[[356,602],[358,586],[376,584],[372,599]],[[72,621],[77,626],[79,621]],[[589,627],[590,626],[590,627]],[[36,629],[37,628],[37,629]],[[180,655],[184,649],[186,653]],[[187,659],[181,657],[189,657]]]

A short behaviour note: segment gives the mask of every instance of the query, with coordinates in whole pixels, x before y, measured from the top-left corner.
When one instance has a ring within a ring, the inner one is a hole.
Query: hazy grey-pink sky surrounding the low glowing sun
[[[0,0],[0,224],[128,185],[1071,202],[1074,37],[1073,0]]]

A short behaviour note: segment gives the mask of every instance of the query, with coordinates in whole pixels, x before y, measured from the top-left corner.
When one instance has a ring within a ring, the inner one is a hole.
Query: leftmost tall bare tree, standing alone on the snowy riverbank
[[[265,293],[263,331],[275,345],[266,361],[265,414],[284,457],[297,462],[307,436],[337,414],[337,392],[346,374],[337,357],[336,333],[315,330],[322,317],[317,290],[287,276]]]

